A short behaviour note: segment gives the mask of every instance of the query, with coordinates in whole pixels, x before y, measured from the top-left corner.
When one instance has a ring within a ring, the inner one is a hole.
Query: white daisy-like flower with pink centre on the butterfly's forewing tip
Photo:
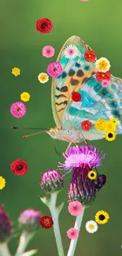
[[[79,50],[76,46],[73,46],[72,44],[70,44],[69,46],[65,47],[64,55],[65,55],[65,58],[74,60],[79,55]]]

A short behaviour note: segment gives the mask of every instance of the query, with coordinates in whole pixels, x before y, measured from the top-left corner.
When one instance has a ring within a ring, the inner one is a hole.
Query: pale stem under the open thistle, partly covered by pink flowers
[[[82,221],[83,221],[83,213],[84,213],[85,207],[83,207],[82,213],[76,217],[76,222],[74,228],[76,228],[79,232]],[[73,256],[76,250],[76,244],[77,244],[78,238],[77,239],[72,239],[69,249],[68,249],[68,254],[67,256]]]

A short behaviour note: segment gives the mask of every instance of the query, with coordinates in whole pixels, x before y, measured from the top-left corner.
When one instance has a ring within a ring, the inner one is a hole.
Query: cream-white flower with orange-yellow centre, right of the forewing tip
[[[102,57],[95,62],[95,67],[99,72],[107,72],[109,71],[110,63],[107,58]]]

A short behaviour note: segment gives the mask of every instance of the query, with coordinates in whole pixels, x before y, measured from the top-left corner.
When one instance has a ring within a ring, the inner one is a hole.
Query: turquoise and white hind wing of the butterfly
[[[83,132],[85,139],[103,139],[105,132],[97,131],[94,123],[98,119],[108,121],[118,118],[116,134],[122,133],[122,81],[111,76],[109,86],[102,87],[102,83],[91,76],[78,90],[81,95],[79,102],[69,102],[63,115],[63,124],[68,129],[74,128]],[[81,123],[84,120],[91,121],[89,131],[83,131]]]

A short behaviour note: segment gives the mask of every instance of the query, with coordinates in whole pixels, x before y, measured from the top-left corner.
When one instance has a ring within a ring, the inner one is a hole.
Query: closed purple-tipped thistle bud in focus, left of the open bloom
[[[41,176],[41,187],[46,191],[46,193],[60,191],[64,187],[61,173],[57,170],[49,170],[43,173]]]

